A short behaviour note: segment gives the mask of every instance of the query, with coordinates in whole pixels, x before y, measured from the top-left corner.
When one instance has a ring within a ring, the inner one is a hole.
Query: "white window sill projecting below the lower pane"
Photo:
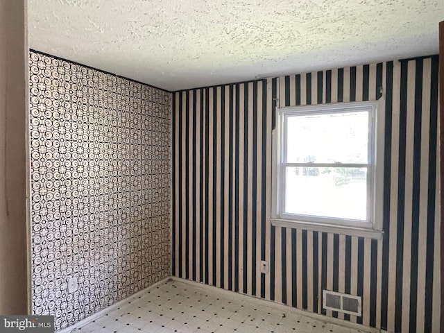
[[[284,219],[271,219],[271,225],[274,225],[275,227],[331,232],[333,234],[346,234],[348,236],[365,237],[370,239],[382,239],[382,236],[384,235],[384,232],[379,230]]]

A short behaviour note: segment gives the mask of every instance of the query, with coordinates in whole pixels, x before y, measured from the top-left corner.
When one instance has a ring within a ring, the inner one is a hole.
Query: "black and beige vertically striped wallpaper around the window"
[[[383,239],[272,226],[275,106],[382,94]],[[438,332],[437,116],[437,56],[174,92],[173,275],[389,332]],[[323,289],[362,296],[362,316],[322,309]]]

